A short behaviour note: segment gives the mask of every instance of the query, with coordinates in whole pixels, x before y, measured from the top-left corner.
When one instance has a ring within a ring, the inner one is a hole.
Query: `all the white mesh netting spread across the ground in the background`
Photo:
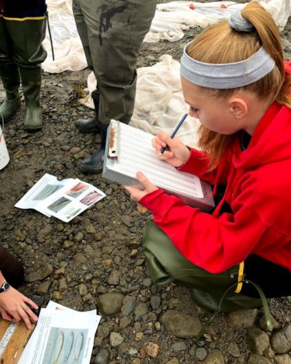
[[[279,30],[283,30],[290,16],[290,0],[260,0],[258,2],[270,12]],[[43,63],[43,70],[50,73],[82,70],[87,66],[87,62],[74,22],[72,0],[47,0],[47,6],[50,14],[55,61],[52,61],[47,32],[43,45],[48,56]],[[205,28],[216,21],[227,19],[233,11],[241,10],[244,6],[246,3],[233,1],[211,3],[172,1],[158,4],[151,29],[144,38],[144,42],[178,41],[184,36],[184,30],[194,26]],[[95,88],[96,79],[91,73],[88,77],[88,97],[80,100],[89,108],[94,108],[90,94]],[[174,61],[169,55],[164,55],[155,65],[138,69],[136,105],[131,119],[132,125],[152,134],[158,130],[171,132],[185,111],[179,62]],[[184,143],[195,146],[198,125],[199,121],[188,117],[177,136]]]

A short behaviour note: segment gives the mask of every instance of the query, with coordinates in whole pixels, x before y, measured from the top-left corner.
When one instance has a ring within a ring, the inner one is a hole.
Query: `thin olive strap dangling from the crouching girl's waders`
[[[269,310],[269,307],[268,307],[268,302],[266,300],[265,294],[263,294],[263,290],[261,290],[261,287],[259,287],[259,285],[257,285],[256,283],[253,283],[251,281],[248,281],[248,280],[243,279],[241,281],[241,283],[251,283],[257,289],[257,292],[259,293],[259,296],[261,298],[261,303],[263,305],[263,313],[265,314],[266,325],[267,325],[268,331],[272,331],[273,330],[272,319],[271,319],[270,310]],[[228,294],[228,292],[235,286],[237,286],[237,283],[235,283],[233,285],[230,285],[230,287],[226,290],[226,292],[224,292],[224,294],[222,295],[222,298],[219,301],[217,311],[215,311],[214,314],[212,316],[210,316],[210,318],[206,321],[206,323],[204,323],[202,325],[202,327],[199,330],[197,336],[195,337],[195,341],[198,341],[203,336],[203,334],[204,334],[206,328],[208,327],[208,325],[210,325],[211,322],[215,319],[215,316],[217,314],[219,314],[220,309],[222,307],[222,302],[224,301],[226,294]]]

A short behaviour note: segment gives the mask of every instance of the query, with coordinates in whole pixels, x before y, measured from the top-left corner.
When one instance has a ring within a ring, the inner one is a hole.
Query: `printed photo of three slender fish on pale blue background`
[[[52,327],[42,364],[81,364],[88,330]]]

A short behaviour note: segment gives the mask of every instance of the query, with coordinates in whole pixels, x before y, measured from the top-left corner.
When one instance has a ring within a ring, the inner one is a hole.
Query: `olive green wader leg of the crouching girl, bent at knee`
[[[156,285],[173,282],[190,287],[193,301],[207,310],[217,310],[223,294],[237,282],[239,265],[219,274],[212,274],[197,267],[180,254],[169,236],[153,221],[144,228],[142,247],[151,279]],[[226,295],[220,308],[221,312],[261,307],[261,299],[253,299],[234,291],[235,287]]]

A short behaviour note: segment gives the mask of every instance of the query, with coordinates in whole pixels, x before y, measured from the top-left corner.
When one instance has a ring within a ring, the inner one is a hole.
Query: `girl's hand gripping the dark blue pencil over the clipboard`
[[[155,148],[156,154],[159,159],[166,161],[173,165],[173,167],[182,167],[188,161],[190,157],[190,150],[180,141],[180,139],[174,137],[171,139],[169,134],[159,132],[155,138],[152,139],[151,144]],[[160,150],[167,147],[163,154]]]

